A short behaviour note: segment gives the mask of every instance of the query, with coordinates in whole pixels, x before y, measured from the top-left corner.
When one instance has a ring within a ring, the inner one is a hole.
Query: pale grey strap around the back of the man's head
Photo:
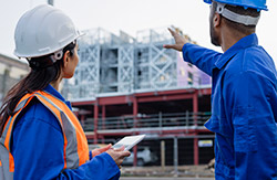
[[[235,12],[229,11],[228,9],[225,8],[225,3],[217,3],[217,8],[216,8],[216,12],[222,14],[224,18],[237,22],[237,23],[242,23],[245,25],[257,25],[260,15],[254,18],[254,17],[249,17],[249,15],[242,15],[242,14],[237,14]]]

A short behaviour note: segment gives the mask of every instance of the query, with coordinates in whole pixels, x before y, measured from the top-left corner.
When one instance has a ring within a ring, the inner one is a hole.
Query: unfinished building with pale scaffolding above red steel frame
[[[211,78],[185,63],[182,53],[163,49],[174,43],[166,28],[140,31],[136,38],[103,29],[84,33],[75,75],[64,82],[62,94],[72,102],[89,142],[146,134],[138,146],[157,155],[156,165],[162,141],[166,165],[213,159],[214,135],[204,127],[211,116]]]

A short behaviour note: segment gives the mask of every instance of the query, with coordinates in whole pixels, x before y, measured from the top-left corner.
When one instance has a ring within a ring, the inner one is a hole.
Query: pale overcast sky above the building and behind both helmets
[[[6,0],[0,6],[0,53],[12,57],[13,33],[19,18],[47,0]],[[277,64],[277,1],[267,0],[257,27],[259,44]],[[203,0],[54,0],[80,30],[103,28],[119,34],[120,30],[136,38],[136,32],[174,25],[199,45],[222,52],[209,40],[208,4]],[[35,28],[35,27],[34,27]]]

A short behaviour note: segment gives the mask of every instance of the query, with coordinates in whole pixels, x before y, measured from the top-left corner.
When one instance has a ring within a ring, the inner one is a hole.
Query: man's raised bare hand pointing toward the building
[[[171,32],[172,36],[175,40],[175,44],[165,44],[165,49],[173,49],[177,51],[182,51],[183,46],[188,43],[188,39],[178,34],[175,30],[172,30],[168,28],[168,31]]]

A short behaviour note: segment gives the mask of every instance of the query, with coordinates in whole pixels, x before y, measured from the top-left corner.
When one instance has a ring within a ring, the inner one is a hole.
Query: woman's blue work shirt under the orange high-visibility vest
[[[48,93],[64,102],[51,85]],[[33,99],[17,118],[11,153],[14,159],[14,180],[49,179],[119,179],[120,169],[112,157],[104,152],[92,158],[78,169],[64,169],[64,138],[59,120],[38,99]],[[89,156],[89,155],[88,155]]]

